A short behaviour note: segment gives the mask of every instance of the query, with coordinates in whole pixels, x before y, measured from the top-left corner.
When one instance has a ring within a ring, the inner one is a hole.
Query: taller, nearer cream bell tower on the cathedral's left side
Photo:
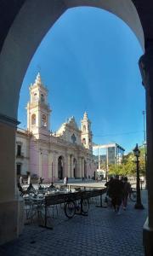
[[[30,102],[27,103],[27,129],[37,138],[49,135],[50,108],[48,90],[42,84],[40,73],[34,84],[29,87]]]

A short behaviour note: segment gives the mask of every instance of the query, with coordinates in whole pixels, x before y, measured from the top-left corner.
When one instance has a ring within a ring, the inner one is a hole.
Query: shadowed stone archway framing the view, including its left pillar
[[[0,53],[0,144],[3,148],[1,154],[0,218],[6,216],[3,230],[1,230],[3,237],[0,243],[14,239],[19,236],[21,231],[19,228],[20,203],[14,172],[15,132],[18,124],[20,86],[31,58],[49,28],[54,25],[60,15],[64,14],[66,9],[77,6],[97,7],[117,15],[132,28],[144,49],[142,26],[131,0],[23,1],[19,11],[12,19],[12,24],[5,32],[3,48]],[[5,214],[6,212],[7,214]],[[14,212],[13,215],[12,212]],[[9,236],[6,230],[11,230]]]

